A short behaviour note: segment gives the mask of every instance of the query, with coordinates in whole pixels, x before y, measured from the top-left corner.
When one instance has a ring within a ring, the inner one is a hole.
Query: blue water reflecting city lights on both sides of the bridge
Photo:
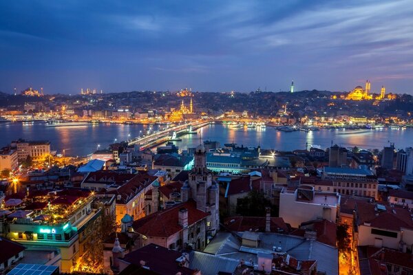
[[[152,126],[158,129],[159,126]],[[52,150],[65,155],[88,155],[98,148],[131,137],[137,137],[149,125],[141,124],[91,124],[88,126],[47,127],[44,122],[22,124],[19,122],[0,124],[0,146],[10,144],[12,140],[49,140]],[[320,131],[282,132],[273,127],[266,129],[233,129],[221,124],[211,124],[200,130],[198,135],[184,135],[182,142],[175,142],[181,149],[195,147],[202,140],[217,140],[224,143],[235,142],[244,146],[261,145],[279,151],[308,148],[311,145],[327,148],[331,141],[345,147],[383,148],[394,142],[396,148],[413,146],[413,129],[382,128],[376,130],[321,129]],[[130,136],[129,136],[130,135]]]

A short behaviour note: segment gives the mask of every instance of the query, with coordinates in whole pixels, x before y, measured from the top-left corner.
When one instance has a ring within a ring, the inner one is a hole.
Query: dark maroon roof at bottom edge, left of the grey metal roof
[[[141,266],[142,261],[145,262],[145,267],[160,275],[192,275],[196,274],[197,270],[191,270],[188,267],[181,267],[176,261],[182,254],[175,250],[162,248],[162,246],[154,245],[153,243],[139,248],[133,252],[129,252],[123,258],[123,261],[133,265]]]

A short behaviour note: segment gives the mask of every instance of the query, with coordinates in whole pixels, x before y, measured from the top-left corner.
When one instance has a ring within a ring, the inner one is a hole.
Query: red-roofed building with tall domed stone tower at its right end
[[[139,246],[155,243],[165,248],[203,250],[207,239],[220,227],[218,185],[207,169],[207,152],[201,144],[195,149],[194,166],[180,188],[182,203],[149,214],[134,222]],[[158,188],[153,188],[152,197]],[[156,201],[156,199],[153,199]]]

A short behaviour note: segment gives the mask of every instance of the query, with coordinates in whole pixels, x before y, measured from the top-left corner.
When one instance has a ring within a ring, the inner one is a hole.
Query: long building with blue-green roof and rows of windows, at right
[[[379,182],[370,170],[325,166],[321,178],[332,181],[333,192],[374,199],[378,197]]]

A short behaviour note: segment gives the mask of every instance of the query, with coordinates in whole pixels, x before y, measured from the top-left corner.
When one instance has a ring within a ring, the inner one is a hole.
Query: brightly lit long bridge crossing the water
[[[202,128],[203,126],[211,123],[210,121],[194,121],[194,122],[187,122],[184,124],[178,124],[172,127],[169,127],[165,130],[156,131],[149,135],[144,135],[143,137],[135,137],[132,140],[128,141],[128,145],[139,144],[140,149],[143,150],[145,148],[151,148],[158,144],[162,144],[171,140],[172,138],[176,138],[179,135],[184,134],[192,134],[196,133],[196,130]]]

